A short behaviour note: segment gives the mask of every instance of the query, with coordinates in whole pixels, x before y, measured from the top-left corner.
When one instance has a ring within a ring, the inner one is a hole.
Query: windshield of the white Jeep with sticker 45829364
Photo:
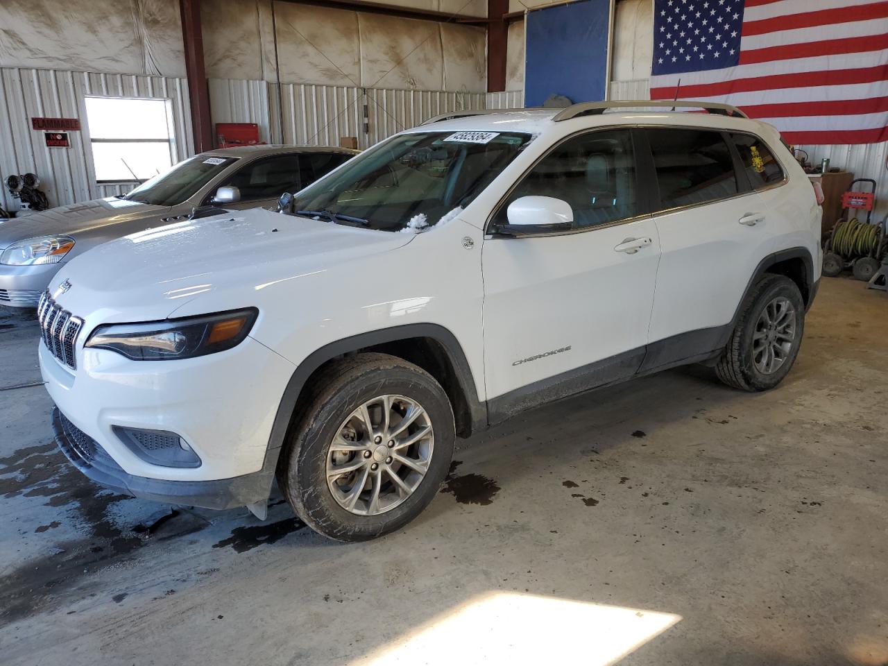
[[[530,139],[493,131],[401,134],[306,187],[291,210],[380,231],[421,231],[455,217]]]

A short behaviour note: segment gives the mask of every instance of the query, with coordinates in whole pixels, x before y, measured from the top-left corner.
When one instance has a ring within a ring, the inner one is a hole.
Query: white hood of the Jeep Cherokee
[[[231,211],[99,245],[68,262],[50,289],[59,305],[93,323],[160,320],[210,292],[214,302],[230,303],[222,309],[253,305],[258,290],[413,238],[264,209]],[[70,287],[62,292],[65,281]]]

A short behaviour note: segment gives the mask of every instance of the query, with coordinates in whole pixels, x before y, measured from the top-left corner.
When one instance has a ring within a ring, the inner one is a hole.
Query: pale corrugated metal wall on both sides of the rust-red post
[[[485,108],[483,93],[366,89],[368,130],[364,131],[362,88],[288,83],[281,86],[283,133],[277,86],[265,81],[210,79],[213,123],[258,123],[269,143],[338,145],[357,137],[361,148],[397,131],[452,110]],[[92,166],[86,96],[170,99],[176,159],[193,155],[185,79],[103,75],[47,69],[0,68],[0,178],[35,172],[52,206],[122,194],[134,182],[98,185]],[[48,148],[42,131],[31,130],[35,116],[79,118],[82,131],[68,132],[70,148]],[[20,208],[2,187],[0,205]]]

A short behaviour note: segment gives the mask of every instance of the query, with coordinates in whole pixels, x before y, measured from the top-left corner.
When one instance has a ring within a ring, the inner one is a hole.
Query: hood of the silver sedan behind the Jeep
[[[26,238],[46,234],[77,234],[98,226],[147,218],[163,210],[168,209],[115,197],[42,210],[23,218],[0,221],[0,249]]]

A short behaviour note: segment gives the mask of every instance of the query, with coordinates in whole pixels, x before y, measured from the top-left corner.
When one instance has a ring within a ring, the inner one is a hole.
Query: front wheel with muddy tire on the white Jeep
[[[387,424],[383,400],[390,405]],[[401,419],[410,416],[416,420],[397,432]],[[374,539],[416,518],[447,476],[456,443],[453,410],[438,382],[416,365],[383,353],[331,363],[298,418],[281,456],[278,482],[297,516],[337,541]],[[426,427],[431,435],[423,434]],[[405,459],[409,464],[399,462]],[[339,469],[353,471],[334,476]]]

